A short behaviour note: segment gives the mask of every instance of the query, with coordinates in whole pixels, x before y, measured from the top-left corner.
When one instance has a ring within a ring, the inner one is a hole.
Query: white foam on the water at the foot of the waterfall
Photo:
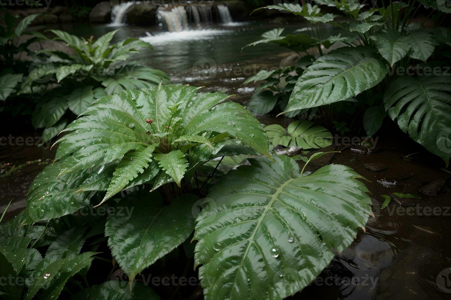
[[[233,33],[233,30],[199,29],[180,32],[163,32],[155,36],[142,36],[139,39],[150,44],[164,44],[179,40],[209,40],[214,36]]]

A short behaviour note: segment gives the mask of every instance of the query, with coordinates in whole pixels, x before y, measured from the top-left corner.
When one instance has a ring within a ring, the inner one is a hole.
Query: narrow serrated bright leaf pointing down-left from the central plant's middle
[[[149,166],[149,162],[152,161],[152,152],[159,145],[155,143],[146,148],[139,148],[136,151],[129,152],[124,155],[116,170],[113,173],[105,197],[99,205],[110,197],[113,197],[116,193],[121,192],[131,180],[138,177],[138,174],[142,174],[144,170]]]

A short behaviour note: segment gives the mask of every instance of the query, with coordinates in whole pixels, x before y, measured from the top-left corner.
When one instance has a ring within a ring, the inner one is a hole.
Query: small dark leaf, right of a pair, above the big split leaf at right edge
[[[437,41],[435,37],[426,29],[417,29],[409,31],[409,35],[405,39],[407,45],[410,46],[407,55],[426,62],[426,60],[434,52]]]

